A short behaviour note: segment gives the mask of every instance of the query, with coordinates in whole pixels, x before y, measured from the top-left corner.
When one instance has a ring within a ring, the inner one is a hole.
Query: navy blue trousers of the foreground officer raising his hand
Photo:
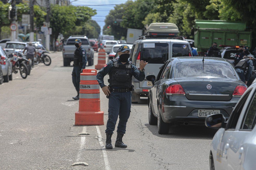
[[[125,134],[126,123],[130,117],[132,103],[132,93],[127,92],[111,92],[108,100],[108,121],[106,133],[113,133],[116,127],[117,118],[119,123],[117,133]]]

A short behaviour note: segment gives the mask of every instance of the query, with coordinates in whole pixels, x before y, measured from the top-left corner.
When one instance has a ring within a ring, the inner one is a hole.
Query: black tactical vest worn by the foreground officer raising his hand
[[[111,60],[114,66],[109,72],[110,87],[131,88],[132,86],[132,62],[118,64],[116,59]]]

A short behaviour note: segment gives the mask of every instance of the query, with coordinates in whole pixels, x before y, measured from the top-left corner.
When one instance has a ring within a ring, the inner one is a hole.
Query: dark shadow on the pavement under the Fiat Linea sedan
[[[212,139],[217,132],[216,129],[210,129],[204,125],[180,125],[171,126],[169,134],[158,134],[156,125],[145,124],[145,126],[153,135],[170,139]]]

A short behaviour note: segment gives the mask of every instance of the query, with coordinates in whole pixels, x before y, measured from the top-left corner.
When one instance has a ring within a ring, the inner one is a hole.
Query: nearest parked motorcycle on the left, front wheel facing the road
[[[28,59],[18,56],[16,54],[9,54],[9,58],[12,62],[12,72],[17,74],[18,70],[20,70],[21,77],[23,79],[27,78],[28,76],[28,67],[24,63],[24,61],[29,61]]]

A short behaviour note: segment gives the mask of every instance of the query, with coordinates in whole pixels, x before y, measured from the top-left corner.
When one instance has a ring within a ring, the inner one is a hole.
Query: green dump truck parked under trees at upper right
[[[224,20],[195,20],[194,43],[199,55],[203,55],[214,42],[221,47],[251,47],[252,32],[246,30],[246,24]]]

